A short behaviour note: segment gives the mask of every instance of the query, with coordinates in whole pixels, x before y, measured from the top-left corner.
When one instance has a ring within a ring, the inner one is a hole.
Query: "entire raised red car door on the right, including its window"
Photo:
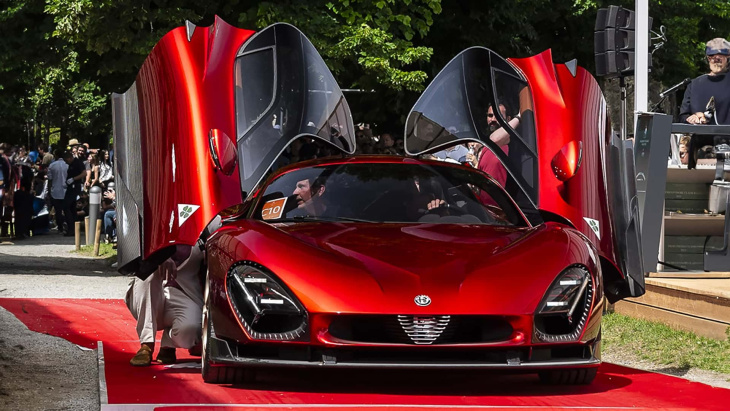
[[[498,123],[491,129],[488,112]],[[507,131],[507,143],[495,128]],[[596,245],[611,302],[644,293],[632,148],[612,134],[590,73],[554,64],[550,51],[505,60],[483,47],[464,50],[409,113],[405,148],[421,155],[467,141],[493,153],[533,224],[560,221]]]

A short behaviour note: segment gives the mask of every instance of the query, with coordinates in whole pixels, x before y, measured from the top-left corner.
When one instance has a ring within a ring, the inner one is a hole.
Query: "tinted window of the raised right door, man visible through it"
[[[489,117],[492,113],[496,121]],[[473,47],[454,57],[413,106],[405,136],[411,155],[464,140],[483,144],[491,153],[481,156],[485,161],[479,167],[504,185],[533,223],[540,222],[530,90],[521,74],[497,54]]]

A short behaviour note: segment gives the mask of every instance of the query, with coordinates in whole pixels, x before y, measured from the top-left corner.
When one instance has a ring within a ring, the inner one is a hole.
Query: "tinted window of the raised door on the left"
[[[286,146],[311,135],[354,151],[352,116],[340,88],[309,40],[288,24],[257,33],[236,70],[241,191],[247,196]]]

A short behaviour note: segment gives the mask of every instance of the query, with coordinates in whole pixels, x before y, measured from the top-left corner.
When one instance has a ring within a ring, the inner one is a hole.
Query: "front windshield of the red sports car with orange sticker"
[[[266,187],[254,218],[527,225],[504,190],[482,174],[466,167],[415,162],[292,170]]]

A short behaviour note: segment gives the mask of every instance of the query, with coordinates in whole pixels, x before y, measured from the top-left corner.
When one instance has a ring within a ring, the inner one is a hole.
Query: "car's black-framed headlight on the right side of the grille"
[[[581,266],[563,270],[535,314],[535,335],[544,342],[576,341],[593,303],[593,278]]]

